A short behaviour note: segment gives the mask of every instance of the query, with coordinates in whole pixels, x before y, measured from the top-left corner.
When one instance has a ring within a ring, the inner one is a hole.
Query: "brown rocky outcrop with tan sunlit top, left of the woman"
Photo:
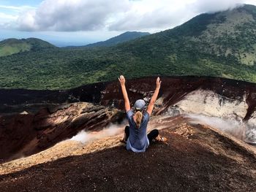
[[[7,161],[31,155],[68,139],[80,130],[101,130],[123,119],[124,113],[90,103],[64,104],[44,108],[32,115],[0,118],[0,159]]]

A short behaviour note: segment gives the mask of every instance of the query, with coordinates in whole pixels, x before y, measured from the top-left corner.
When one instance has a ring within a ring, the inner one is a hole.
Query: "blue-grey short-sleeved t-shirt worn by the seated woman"
[[[143,112],[143,119],[140,123],[140,127],[136,127],[135,120],[133,120],[133,112],[129,110],[127,112],[127,119],[129,122],[129,137],[127,139],[127,150],[133,152],[145,152],[149,145],[147,137],[147,126],[149,120],[148,112]]]

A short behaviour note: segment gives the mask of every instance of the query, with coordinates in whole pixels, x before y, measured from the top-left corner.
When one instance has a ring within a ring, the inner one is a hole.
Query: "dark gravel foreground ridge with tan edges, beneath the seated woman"
[[[149,127],[160,123],[168,142],[146,153],[125,150],[119,134],[10,161],[1,165],[1,191],[255,191],[255,147],[189,122],[152,118]]]

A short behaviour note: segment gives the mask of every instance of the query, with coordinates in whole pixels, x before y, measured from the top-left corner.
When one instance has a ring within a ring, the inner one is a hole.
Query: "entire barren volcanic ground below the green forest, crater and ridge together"
[[[154,81],[127,80],[131,103],[148,101]],[[0,191],[256,190],[252,83],[163,77],[148,131],[168,142],[139,154],[119,142],[127,122],[118,82],[0,98]]]

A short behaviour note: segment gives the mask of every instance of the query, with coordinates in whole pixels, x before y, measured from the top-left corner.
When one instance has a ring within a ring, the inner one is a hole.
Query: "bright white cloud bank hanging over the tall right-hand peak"
[[[201,13],[233,9],[245,2],[246,0],[135,1],[129,12],[125,12],[121,19],[110,25],[110,30],[160,31],[178,26]]]

